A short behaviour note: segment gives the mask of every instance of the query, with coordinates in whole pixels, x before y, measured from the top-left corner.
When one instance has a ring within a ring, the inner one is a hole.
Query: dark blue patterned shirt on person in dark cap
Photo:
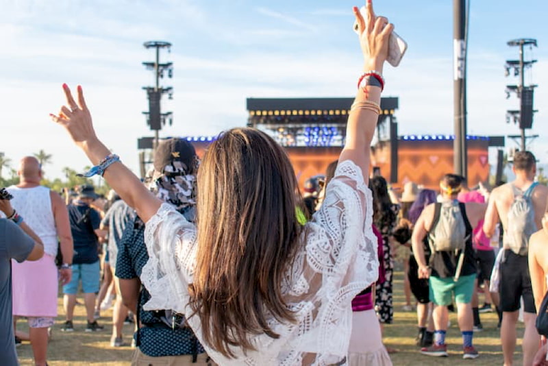
[[[129,222],[118,243],[116,277],[130,280],[139,278],[149,254],[145,246],[145,224],[136,217]],[[163,311],[145,311],[142,306],[149,301],[150,295],[145,287],[141,288],[138,300],[139,321],[143,324],[134,334],[137,346],[147,356],[179,356],[182,354],[200,354],[206,352],[189,327],[171,328],[164,324]]]

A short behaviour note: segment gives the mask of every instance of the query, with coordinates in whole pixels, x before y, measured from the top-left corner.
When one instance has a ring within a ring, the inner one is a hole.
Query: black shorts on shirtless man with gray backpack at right
[[[523,296],[523,310],[525,313],[535,314],[527,256],[514,254],[510,249],[504,250],[500,278],[501,310],[508,312],[519,310],[520,299]]]

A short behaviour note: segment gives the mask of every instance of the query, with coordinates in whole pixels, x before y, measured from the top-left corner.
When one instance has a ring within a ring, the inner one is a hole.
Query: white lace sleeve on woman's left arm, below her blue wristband
[[[184,314],[196,259],[195,225],[173,207],[162,204],[147,222],[145,244],[149,260],[140,278],[151,300],[143,308]]]

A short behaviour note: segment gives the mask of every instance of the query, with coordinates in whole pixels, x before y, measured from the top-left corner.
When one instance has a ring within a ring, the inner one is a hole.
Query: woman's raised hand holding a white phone
[[[375,16],[371,0],[366,3],[366,19],[356,6],[353,11],[358,22],[358,36],[365,59],[364,69],[381,72],[388,57],[388,39],[394,25],[388,23],[384,16]]]

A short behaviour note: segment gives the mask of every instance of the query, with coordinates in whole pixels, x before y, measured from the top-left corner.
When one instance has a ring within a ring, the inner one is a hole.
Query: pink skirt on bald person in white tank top
[[[12,260],[13,315],[56,317],[59,289],[55,258],[44,254],[36,261]]]

